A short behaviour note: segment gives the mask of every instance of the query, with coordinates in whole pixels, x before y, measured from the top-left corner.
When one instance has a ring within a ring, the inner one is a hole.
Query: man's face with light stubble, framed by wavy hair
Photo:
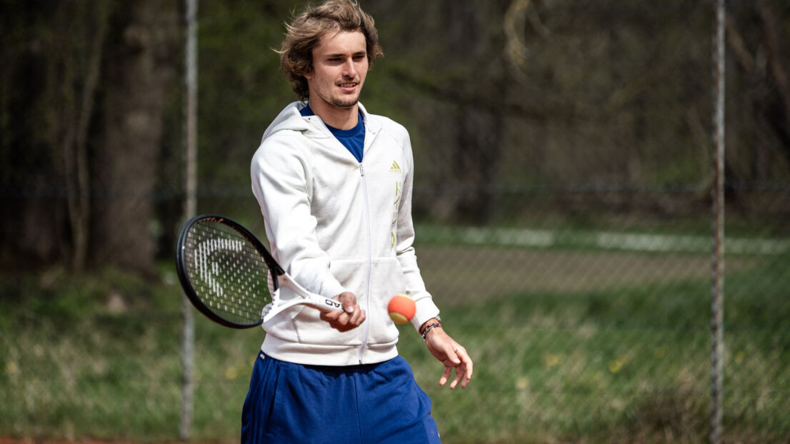
[[[310,89],[310,107],[355,107],[366,75],[367,44],[361,31],[322,36],[313,49],[313,72],[304,76]]]

